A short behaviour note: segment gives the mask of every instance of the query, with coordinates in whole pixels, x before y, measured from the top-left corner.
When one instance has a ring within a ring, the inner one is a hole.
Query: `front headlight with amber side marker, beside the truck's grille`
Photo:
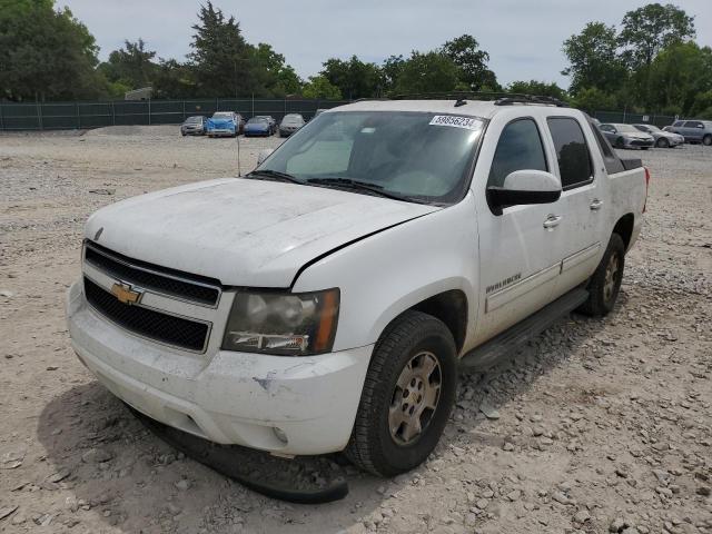
[[[227,320],[222,348],[306,356],[328,353],[338,320],[339,290],[239,291]]]

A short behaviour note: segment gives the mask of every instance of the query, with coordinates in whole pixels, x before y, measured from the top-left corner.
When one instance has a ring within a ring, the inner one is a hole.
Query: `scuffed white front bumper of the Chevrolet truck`
[[[79,359],[139,412],[212,442],[281,454],[344,449],[373,352],[184,353],[108,322],[87,304],[80,281],[68,291],[67,320]]]

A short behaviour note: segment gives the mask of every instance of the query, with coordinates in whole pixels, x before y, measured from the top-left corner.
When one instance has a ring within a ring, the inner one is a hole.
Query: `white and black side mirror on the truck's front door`
[[[487,187],[487,201],[497,215],[506,206],[551,204],[560,197],[558,178],[543,170],[515,170],[507,175],[502,187]]]

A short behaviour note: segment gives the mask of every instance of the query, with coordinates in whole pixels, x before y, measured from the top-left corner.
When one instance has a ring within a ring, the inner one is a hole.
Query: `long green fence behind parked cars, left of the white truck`
[[[202,98],[191,100],[117,100],[107,102],[0,102],[0,130],[87,129],[117,125],[179,125],[192,115],[236,111],[249,119],[271,115],[281,120],[287,113],[305,119],[317,109],[348,103],[347,100],[289,100]]]

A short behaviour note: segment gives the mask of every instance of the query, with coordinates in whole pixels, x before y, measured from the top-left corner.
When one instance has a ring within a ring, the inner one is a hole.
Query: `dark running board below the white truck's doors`
[[[484,370],[512,354],[530,339],[538,336],[564,315],[573,312],[589,298],[586,289],[576,288],[544,306],[526,319],[474,348],[459,360],[461,369]]]

